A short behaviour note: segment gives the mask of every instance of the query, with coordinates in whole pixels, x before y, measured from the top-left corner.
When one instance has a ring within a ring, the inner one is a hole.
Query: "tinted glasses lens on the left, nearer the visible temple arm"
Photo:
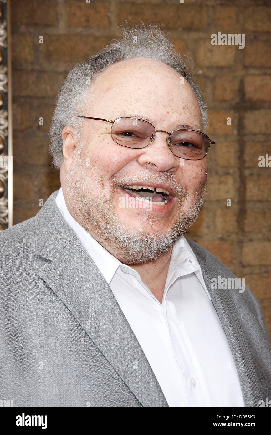
[[[144,148],[151,143],[154,126],[136,118],[117,118],[112,125],[112,138],[117,144],[130,148]]]

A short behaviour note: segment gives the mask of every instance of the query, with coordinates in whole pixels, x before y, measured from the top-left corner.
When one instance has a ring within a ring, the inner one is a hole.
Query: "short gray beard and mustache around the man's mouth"
[[[119,171],[110,177],[112,197],[120,186],[133,184],[134,178],[121,175]],[[96,181],[95,186],[87,185],[89,177]],[[179,211],[175,221],[171,222],[166,232],[150,231],[149,226],[155,228],[155,222],[161,218],[148,215],[141,209],[142,225],[134,229],[127,222],[120,221],[110,198],[103,192],[103,182],[95,175],[95,168],[86,166],[85,158],[78,155],[72,169],[65,174],[65,201],[73,218],[123,264],[143,264],[154,261],[167,253],[174,243],[187,232],[196,221],[200,208],[204,202],[206,184],[201,191],[192,195],[177,184],[172,173],[155,173],[147,169],[141,171],[144,181],[166,183],[174,189],[176,196],[175,207]],[[95,194],[93,192],[95,191]],[[184,209],[185,199],[191,196],[192,201]]]

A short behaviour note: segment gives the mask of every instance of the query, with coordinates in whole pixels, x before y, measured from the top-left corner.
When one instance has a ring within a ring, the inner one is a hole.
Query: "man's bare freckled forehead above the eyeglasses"
[[[107,67],[92,85],[93,116],[115,119],[137,113],[155,123],[181,121],[201,127],[194,91],[171,67],[153,59],[123,60]]]

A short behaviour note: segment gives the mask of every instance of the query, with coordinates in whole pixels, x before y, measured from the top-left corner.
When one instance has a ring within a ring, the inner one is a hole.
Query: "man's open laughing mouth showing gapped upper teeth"
[[[138,201],[165,206],[171,199],[169,192],[161,187],[124,185],[124,192],[136,198]]]

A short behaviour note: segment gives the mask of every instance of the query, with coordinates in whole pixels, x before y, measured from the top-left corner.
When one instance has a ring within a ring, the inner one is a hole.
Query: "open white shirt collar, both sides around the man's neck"
[[[122,271],[128,272],[138,280],[140,280],[140,275],[130,266],[121,263],[116,257],[114,257],[110,252],[108,252],[103,246],[101,246],[97,240],[95,240],[69,213],[62,188],[57,194],[55,199],[57,207],[60,210],[63,218],[67,224],[74,230],[75,234],[79,238],[80,242],[83,244],[84,248],[90,254],[97,267],[99,268],[107,284],[110,284],[114,277],[117,269],[120,268]],[[182,236],[179,238],[173,248],[171,253],[171,261],[167,273],[167,280],[165,289],[166,292],[171,284],[180,276],[195,273],[199,281],[201,282],[208,298],[211,300],[210,294],[207,291],[204,279],[201,273],[201,267],[197,261],[197,258],[189,246],[188,242]],[[166,296],[166,292],[164,296]]]

